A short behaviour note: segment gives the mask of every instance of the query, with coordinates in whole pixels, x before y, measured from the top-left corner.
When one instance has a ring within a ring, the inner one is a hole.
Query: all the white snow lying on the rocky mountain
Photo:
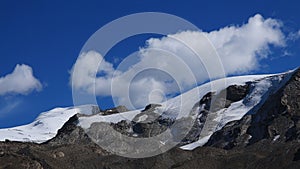
[[[244,85],[246,82],[255,82],[253,90],[251,90],[243,100],[234,102],[228,108],[221,109],[214,114],[215,118],[212,120],[214,123],[204,125],[198,141],[181,147],[185,150],[193,150],[196,147],[204,145],[210,136],[225,126],[226,123],[239,120],[245,114],[251,113],[251,111],[262,104],[270,94],[285,84],[291,74],[292,71],[276,75],[250,75],[215,80],[161,103],[162,106],[156,107],[155,111],[157,113],[164,112],[165,115],[176,119],[187,117],[191,115],[190,112],[195,103],[208,92],[212,90],[214,92],[220,92],[230,85]],[[132,120],[141,112],[141,110],[134,110],[102,116],[99,114],[91,115],[92,108],[93,105],[83,105],[69,108],[55,108],[48,112],[43,112],[30,124],[0,129],[0,141],[8,139],[10,141],[21,142],[45,142],[55,137],[57,131],[70,117],[77,113],[89,115],[80,116],[78,122],[78,126],[88,129],[94,122],[117,123],[121,120]]]

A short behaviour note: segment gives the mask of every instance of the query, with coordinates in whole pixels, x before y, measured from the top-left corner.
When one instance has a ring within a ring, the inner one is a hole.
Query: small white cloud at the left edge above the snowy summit
[[[27,65],[16,65],[14,71],[0,77],[0,95],[9,93],[26,95],[33,90],[40,91],[42,85],[33,76],[32,68]]]

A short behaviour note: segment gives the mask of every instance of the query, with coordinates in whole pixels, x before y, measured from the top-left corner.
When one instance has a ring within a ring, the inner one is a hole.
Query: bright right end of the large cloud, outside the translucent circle
[[[284,46],[281,24],[255,15],[241,27],[226,27],[208,33],[228,74],[245,73],[259,67],[259,60],[269,54],[269,45]],[[219,37],[219,38],[218,38]]]

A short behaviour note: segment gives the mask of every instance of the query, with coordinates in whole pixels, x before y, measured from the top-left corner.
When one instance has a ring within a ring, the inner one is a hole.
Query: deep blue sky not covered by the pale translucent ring
[[[270,53],[259,60],[259,67],[236,74],[276,73],[299,66],[299,6],[296,0],[1,1],[0,77],[11,74],[19,64],[20,71],[30,73],[31,68],[38,82],[28,84],[31,88],[27,90],[0,95],[0,128],[31,122],[40,112],[54,107],[72,106],[70,70],[88,38],[114,19],[137,12],[165,12],[211,32],[247,24],[256,14],[264,19],[274,18],[282,24],[285,45],[271,44]],[[142,35],[123,41],[109,52],[107,61],[120,62],[151,37],[160,36]],[[18,87],[26,85],[23,81],[15,83]],[[99,96],[98,101],[101,107],[113,106],[109,98]]]

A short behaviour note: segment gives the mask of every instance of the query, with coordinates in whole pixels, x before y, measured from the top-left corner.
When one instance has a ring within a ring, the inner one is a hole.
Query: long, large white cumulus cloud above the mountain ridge
[[[87,51],[79,56],[72,68],[72,85],[77,90],[98,96],[112,95],[116,104],[143,107],[210,78],[218,78],[207,72],[207,68],[219,69],[215,61],[205,65],[203,62],[212,56],[207,40],[219,54],[226,75],[243,74],[260,67],[259,61],[268,57],[270,46],[285,46],[286,37],[281,28],[280,21],[264,19],[257,14],[240,26],[211,32],[187,30],[160,39],[151,38],[135,55],[133,64],[125,69],[114,68],[101,54]],[[201,51],[201,56],[197,51]]]

